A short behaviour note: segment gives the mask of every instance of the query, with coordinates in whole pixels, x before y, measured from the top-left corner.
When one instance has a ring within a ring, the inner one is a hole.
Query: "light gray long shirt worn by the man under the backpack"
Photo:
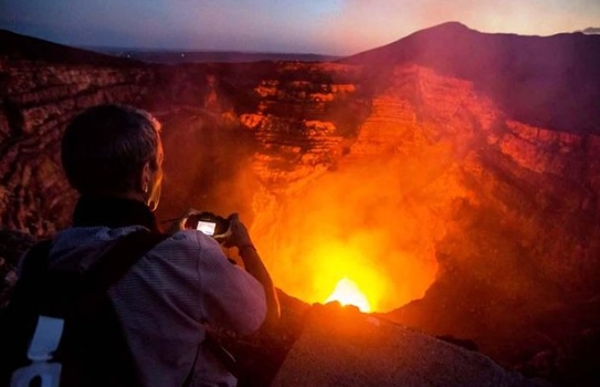
[[[86,270],[109,241],[140,229],[78,227],[59,232],[51,265]],[[196,230],[175,233],[141,257],[108,291],[144,386],[234,386],[235,378],[200,344],[204,324],[255,332],[266,314],[263,286]],[[198,352],[198,357],[197,357]],[[107,370],[109,372],[109,370]]]

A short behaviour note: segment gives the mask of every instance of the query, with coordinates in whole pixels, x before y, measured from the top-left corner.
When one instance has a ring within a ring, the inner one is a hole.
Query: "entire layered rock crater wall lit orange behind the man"
[[[513,365],[598,330],[597,121],[545,126],[488,79],[392,62],[0,59],[2,228],[66,224],[62,126],[99,102],[135,103],[165,124],[159,217],[241,211],[285,292],[323,302],[341,273],[386,317]]]

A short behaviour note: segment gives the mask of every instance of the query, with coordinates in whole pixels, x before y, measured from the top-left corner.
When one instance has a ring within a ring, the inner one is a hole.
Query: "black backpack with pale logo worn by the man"
[[[35,375],[42,386],[59,386],[59,380],[61,387],[138,386],[133,356],[107,290],[167,237],[147,230],[124,236],[83,274],[49,271],[50,240],[31,248],[0,316],[0,386],[9,386],[19,373],[27,379],[22,386],[29,386]],[[44,332],[55,334],[50,335],[54,345],[39,341]],[[52,352],[52,359],[30,359],[40,343]],[[49,375],[60,375],[60,379]]]

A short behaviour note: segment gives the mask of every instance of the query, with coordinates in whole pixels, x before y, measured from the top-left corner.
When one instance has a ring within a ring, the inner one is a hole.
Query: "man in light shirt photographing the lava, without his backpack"
[[[159,123],[144,111],[101,105],[66,127],[62,163],[81,194],[73,227],[52,242],[50,264],[88,268],[106,245],[146,228],[160,199]],[[250,334],[278,320],[272,280],[244,224],[230,217],[245,270],[212,238],[180,230],[148,251],[109,290],[143,386],[231,386],[235,378],[204,342],[204,324]],[[107,369],[109,373],[110,370]]]

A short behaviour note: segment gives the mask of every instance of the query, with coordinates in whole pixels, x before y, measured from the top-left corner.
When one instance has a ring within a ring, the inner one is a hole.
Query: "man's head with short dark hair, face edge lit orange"
[[[155,209],[162,180],[160,124],[149,113],[125,105],[99,105],[66,126],[62,163],[82,196],[144,200]]]

